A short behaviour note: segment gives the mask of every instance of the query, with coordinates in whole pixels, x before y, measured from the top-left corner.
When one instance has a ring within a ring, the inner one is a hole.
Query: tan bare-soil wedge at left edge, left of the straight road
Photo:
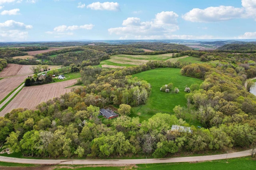
[[[27,76],[15,76],[3,78],[0,80],[0,101],[7,96],[12,90],[17,88]]]

